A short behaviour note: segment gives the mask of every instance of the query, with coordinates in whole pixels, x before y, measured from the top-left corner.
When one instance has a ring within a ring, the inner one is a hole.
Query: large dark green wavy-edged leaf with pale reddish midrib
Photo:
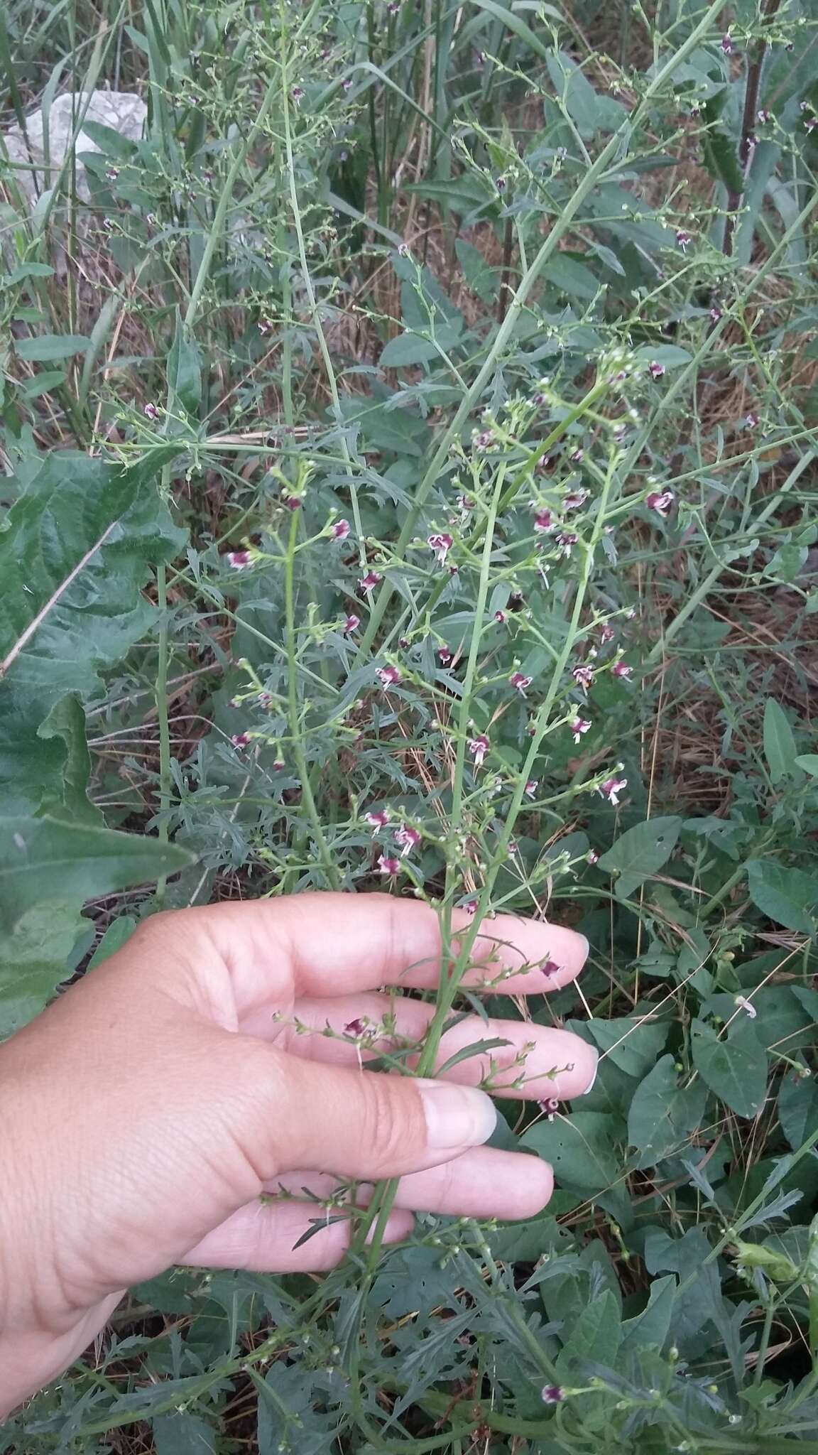
[[[182,547],[153,476],[173,447],[131,470],[58,451],[42,461],[0,531],[0,793],[7,813],[79,810],[77,714],[100,672],[148,631],[151,567]],[[70,760],[74,767],[70,767]],[[82,771],[80,771],[82,767]]]

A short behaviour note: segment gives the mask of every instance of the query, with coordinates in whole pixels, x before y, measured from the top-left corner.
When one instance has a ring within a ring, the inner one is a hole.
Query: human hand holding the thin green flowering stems
[[[456,912],[454,931],[467,924]],[[498,915],[463,984],[541,994],[585,954],[571,930]],[[362,1183],[365,1202],[367,1183],[400,1177],[387,1241],[410,1232],[413,1211],[544,1206],[544,1163],[482,1145],[495,1112],[477,1083],[491,1072],[502,1096],[581,1096],[597,1064],[584,1040],[470,1016],[444,1035],[440,1067],[474,1042],[508,1045],[444,1081],[361,1067],[396,1037],[422,1040],[434,1011],[378,986],[431,989],[440,968],[438,918],[409,899],[183,909],[147,920],[0,1046],[0,1416],[82,1353],[128,1285],[173,1263],[294,1272],[342,1259],[348,1219],[294,1247],[314,1203],[263,1192],[323,1197],[341,1179]]]

